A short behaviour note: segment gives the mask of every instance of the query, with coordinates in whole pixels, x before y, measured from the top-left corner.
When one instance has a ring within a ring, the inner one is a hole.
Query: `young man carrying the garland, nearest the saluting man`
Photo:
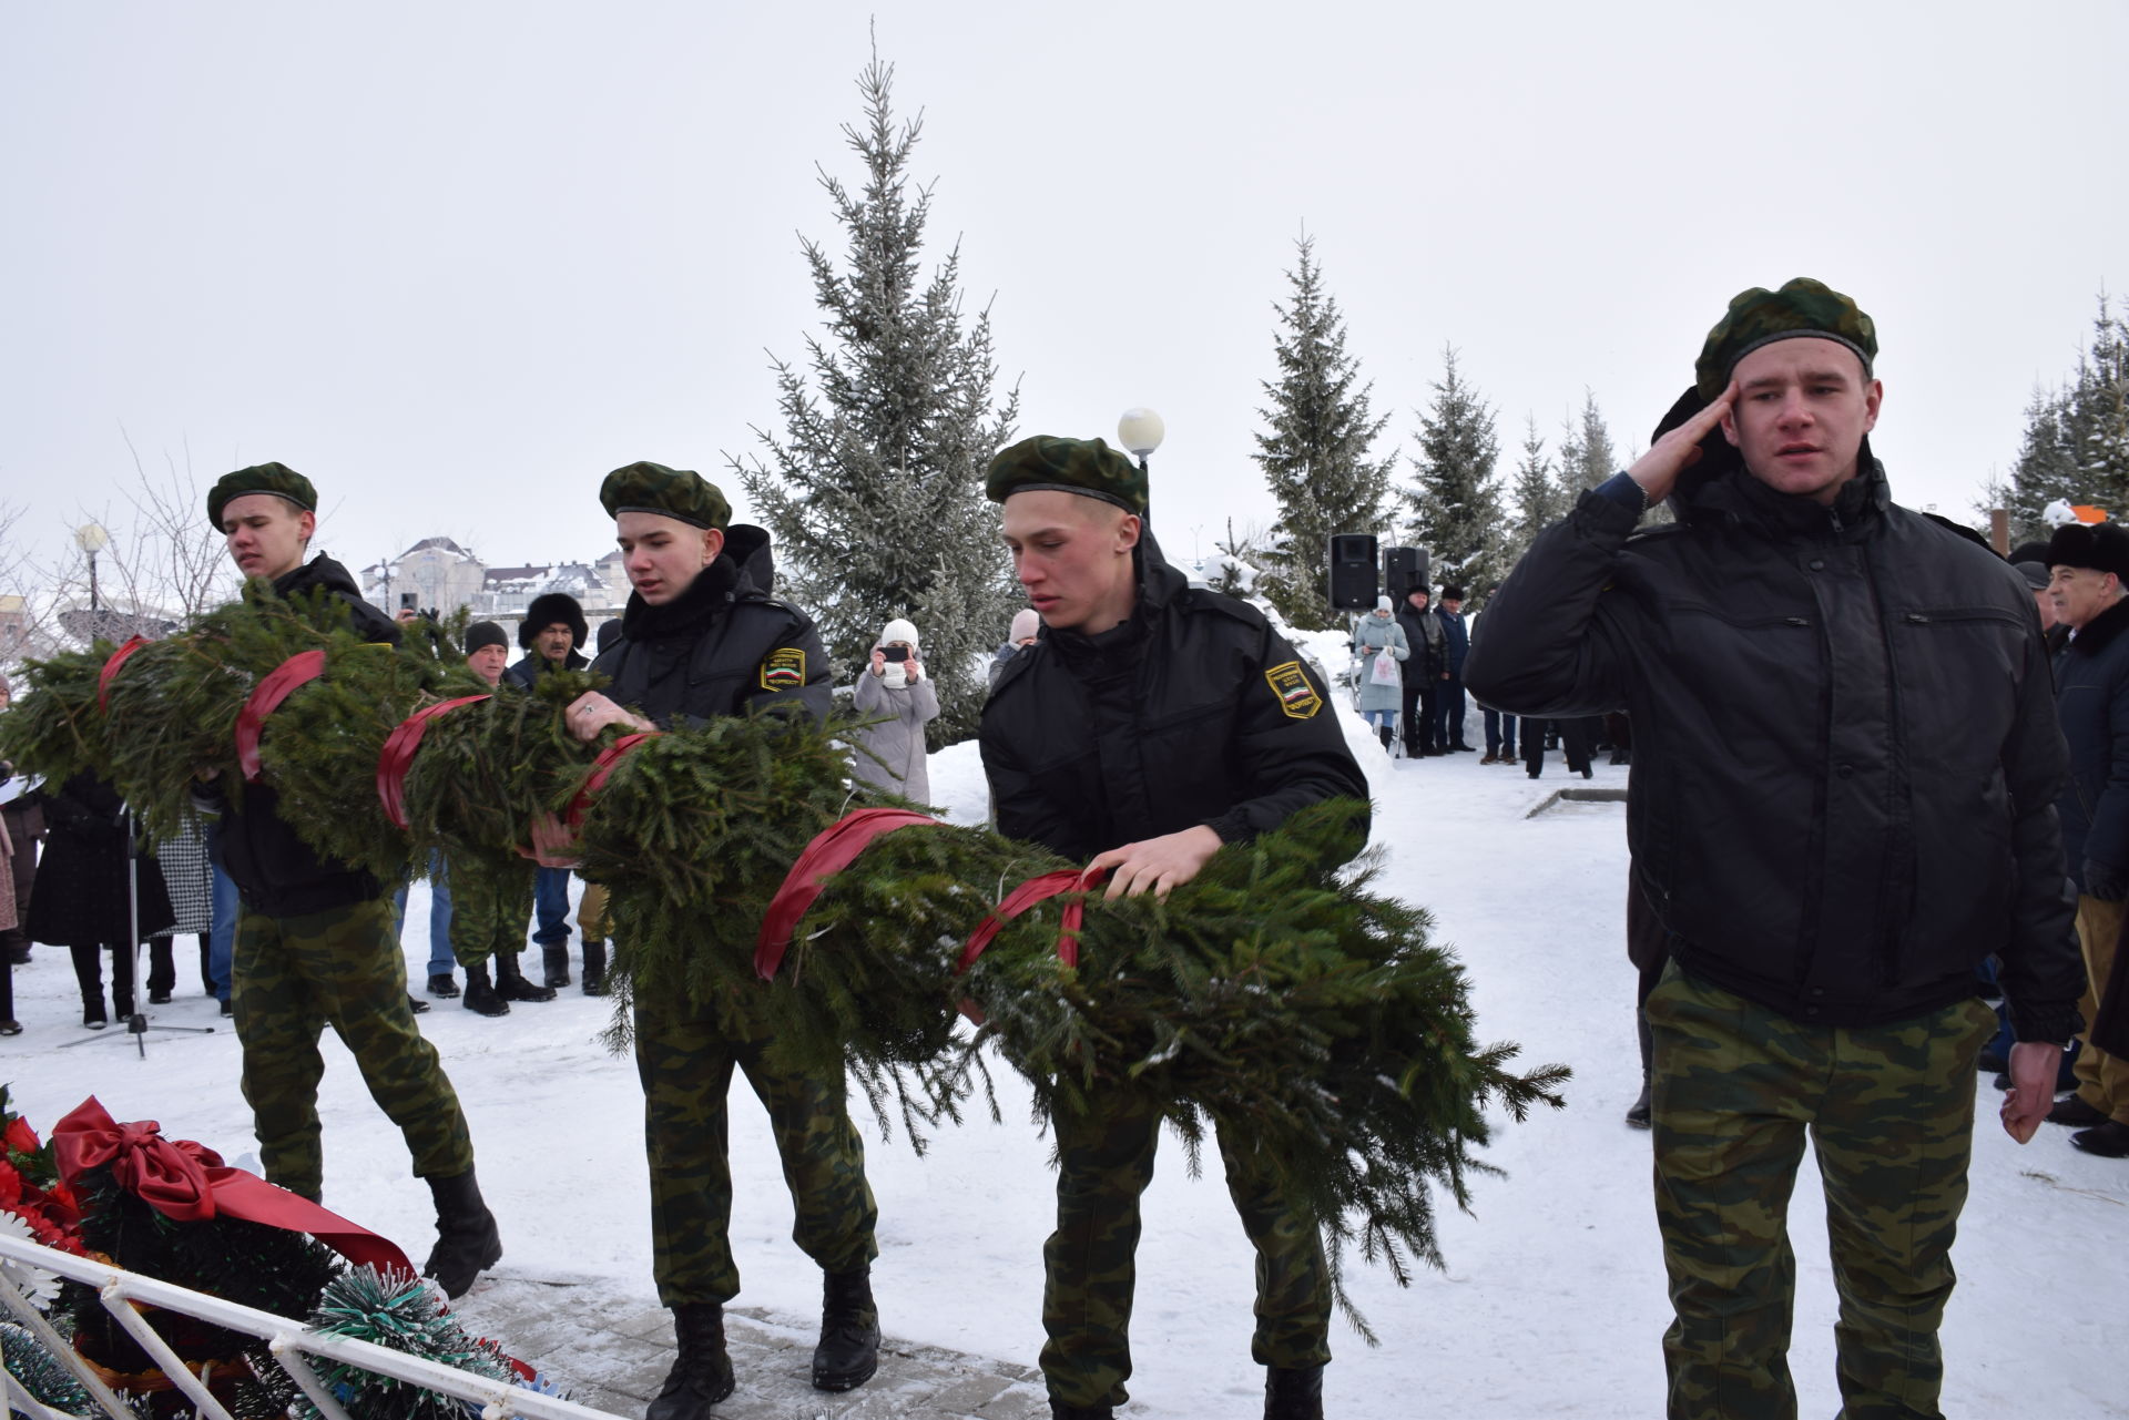
[[[1005,543],[1043,637],[984,705],[999,832],[1107,869],[1109,896],[1186,884],[1226,843],[1326,798],[1367,798],[1316,673],[1265,617],[1192,588],[1145,530],[1145,473],[1099,439],[1026,439],[990,462]],[[1365,809],[1363,809],[1365,813]],[[1356,839],[1358,841],[1358,839]],[[1139,1194],[1160,1101],[1103,1081],[1058,1111],[1058,1226],[1043,1248],[1041,1367],[1052,1414],[1109,1416],[1130,1375]],[[1322,1239],[1220,1128],[1226,1186],[1256,1248],[1267,1416],[1320,1416],[1331,1358]]]

